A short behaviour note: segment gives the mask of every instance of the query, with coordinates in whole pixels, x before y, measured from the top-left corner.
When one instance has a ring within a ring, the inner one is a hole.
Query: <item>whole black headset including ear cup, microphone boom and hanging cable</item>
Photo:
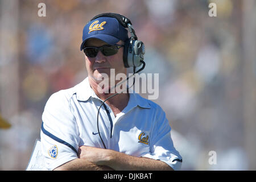
[[[135,34],[135,30],[133,28],[133,26],[131,26],[131,21],[126,18],[125,16],[121,15],[121,14],[116,14],[116,13],[102,13],[99,14],[97,16],[94,16],[90,21],[99,18],[99,17],[111,17],[111,18],[115,18],[118,20],[119,23],[122,24],[123,27],[128,28],[131,37],[127,40],[125,40],[125,45],[123,48],[123,64],[125,65],[125,68],[130,68],[133,67],[133,75],[134,76],[135,73],[138,73],[140,71],[142,71],[145,67],[145,62],[144,60],[144,54],[145,54],[145,46],[143,44],[142,41],[138,40],[137,35]],[[140,68],[138,71],[135,71],[135,69],[139,66],[142,65],[142,68]],[[122,82],[129,80],[129,78],[131,77],[127,77],[126,80],[123,80],[121,82],[119,82],[117,85],[122,84]],[[135,79],[133,81],[133,85],[134,85]],[[113,86],[113,88],[115,88],[117,85]],[[133,86],[131,85],[131,86]],[[111,88],[110,90],[112,90],[113,88]],[[104,105],[104,103],[109,100],[110,98],[116,96],[119,93],[115,93],[113,94],[113,96],[110,96],[108,98],[106,98],[105,101],[103,101],[100,105],[100,107],[98,108],[98,114],[97,114],[97,129],[98,129],[98,135],[100,136],[101,142],[104,145],[104,148],[106,148],[105,143],[103,141],[103,139],[101,138],[101,134],[100,134],[100,129],[98,126],[98,116],[100,113],[100,109],[101,106]]]

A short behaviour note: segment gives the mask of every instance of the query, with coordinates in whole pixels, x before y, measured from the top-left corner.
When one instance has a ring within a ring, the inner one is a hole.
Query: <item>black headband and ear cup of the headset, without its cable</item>
[[[145,46],[141,40],[138,40],[131,21],[125,16],[117,13],[102,13],[94,16],[90,21],[99,17],[115,18],[123,27],[128,28],[131,37],[125,40],[123,48],[123,64],[125,65],[125,68],[141,66],[144,62]]]

